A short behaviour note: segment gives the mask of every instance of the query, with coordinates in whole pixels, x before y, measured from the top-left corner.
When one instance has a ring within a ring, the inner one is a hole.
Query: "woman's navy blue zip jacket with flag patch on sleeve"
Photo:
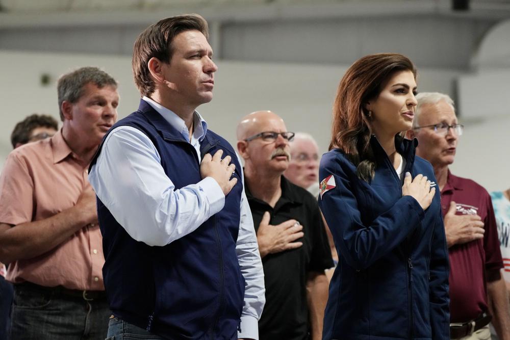
[[[333,234],[338,267],[329,285],[323,339],[449,339],[448,250],[440,192],[425,210],[402,196],[398,178],[375,136],[375,177],[368,183],[339,149],[322,156],[319,206]],[[417,141],[395,138],[405,172],[436,181]],[[328,190],[329,189],[329,190]]]

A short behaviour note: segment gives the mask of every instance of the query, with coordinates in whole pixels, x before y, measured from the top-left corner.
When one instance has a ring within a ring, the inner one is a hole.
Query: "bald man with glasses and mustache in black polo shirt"
[[[245,191],[264,266],[261,340],[321,338],[327,300],[324,270],[333,266],[317,201],[283,176],[293,136],[270,111],[254,112],[237,127]]]

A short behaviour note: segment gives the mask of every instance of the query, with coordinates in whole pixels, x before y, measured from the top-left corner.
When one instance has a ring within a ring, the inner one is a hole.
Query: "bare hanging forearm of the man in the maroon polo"
[[[510,306],[503,277],[487,282],[489,311],[500,340],[510,340]]]

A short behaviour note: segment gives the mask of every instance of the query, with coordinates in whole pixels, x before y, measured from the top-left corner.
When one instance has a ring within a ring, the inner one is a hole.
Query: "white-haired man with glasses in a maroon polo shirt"
[[[453,100],[441,93],[416,96],[413,129],[417,155],[432,164],[450,259],[450,337],[490,339],[492,322],[500,340],[510,339],[510,316],[496,220],[489,193],[471,179],[448,169],[455,158],[463,125],[457,122]]]

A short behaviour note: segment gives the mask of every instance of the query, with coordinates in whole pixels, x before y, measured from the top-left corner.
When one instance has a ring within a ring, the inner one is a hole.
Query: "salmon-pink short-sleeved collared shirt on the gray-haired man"
[[[90,189],[87,168],[65,142],[62,130],[14,149],[0,175],[0,222],[39,221],[74,206]],[[56,248],[13,261],[6,278],[14,283],[103,291],[102,242],[98,225],[84,225]]]

